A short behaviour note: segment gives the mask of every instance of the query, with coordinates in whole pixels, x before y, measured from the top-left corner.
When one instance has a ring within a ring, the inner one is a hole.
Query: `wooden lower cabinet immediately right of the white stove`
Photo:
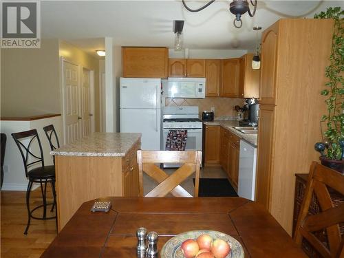
[[[204,165],[219,165],[220,133],[219,125],[206,125]]]

